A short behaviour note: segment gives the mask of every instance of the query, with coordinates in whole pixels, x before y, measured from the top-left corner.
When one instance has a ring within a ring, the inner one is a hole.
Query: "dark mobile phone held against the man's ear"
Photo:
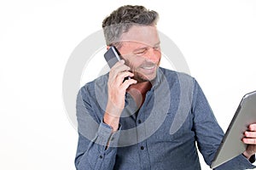
[[[116,62],[120,60],[120,53],[114,46],[108,48],[108,51],[104,54],[104,58],[106,59],[109,68],[112,68]]]

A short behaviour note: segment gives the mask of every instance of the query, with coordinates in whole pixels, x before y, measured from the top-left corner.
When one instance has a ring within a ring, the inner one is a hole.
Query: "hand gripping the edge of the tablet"
[[[250,124],[247,131],[244,133],[243,143],[247,144],[247,150],[243,155],[248,159],[256,153],[256,123]]]

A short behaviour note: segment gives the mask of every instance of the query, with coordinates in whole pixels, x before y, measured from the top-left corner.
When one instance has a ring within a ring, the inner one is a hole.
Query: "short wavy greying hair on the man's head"
[[[159,19],[159,14],[154,10],[148,10],[143,6],[125,5],[114,10],[102,21],[105,40],[108,46],[121,47],[119,39],[121,35],[131,28],[131,26],[155,26]]]

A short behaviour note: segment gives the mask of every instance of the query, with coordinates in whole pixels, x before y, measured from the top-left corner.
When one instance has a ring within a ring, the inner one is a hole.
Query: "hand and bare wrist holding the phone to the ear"
[[[131,84],[137,83],[134,79],[125,80],[125,77],[133,77],[130,67],[124,60],[117,62],[109,71],[108,77],[108,104],[104,115],[104,122],[116,131],[119,127],[119,116],[125,107],[126,89]],[[124,82],[125,80],[125,82]]]

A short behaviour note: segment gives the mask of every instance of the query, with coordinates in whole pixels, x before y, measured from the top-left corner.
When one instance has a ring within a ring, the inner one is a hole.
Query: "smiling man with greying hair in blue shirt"
[[[107,48],[122,60],[79,90],[77,169],[201,169],[224,133],[195,78],[160,68],[158,14],[142,6],[113,11],[102,27]],[[130,78],[127,78],[130,77]],[[246,169],[256,152],[256,124],[247,150],[216,169]]]

